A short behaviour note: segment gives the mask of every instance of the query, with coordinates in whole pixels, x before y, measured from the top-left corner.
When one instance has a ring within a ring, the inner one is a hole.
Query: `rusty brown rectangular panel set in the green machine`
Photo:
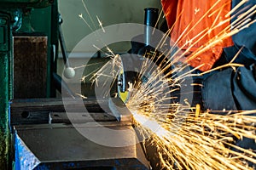
[[[46,97],[47,37],[14,37],[15,99]]]

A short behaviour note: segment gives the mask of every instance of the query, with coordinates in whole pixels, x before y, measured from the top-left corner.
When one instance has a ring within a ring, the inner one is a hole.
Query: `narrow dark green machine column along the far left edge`
[[[9,165],[8,101],[12,97],[10,16],[0,11],[0,169]]]

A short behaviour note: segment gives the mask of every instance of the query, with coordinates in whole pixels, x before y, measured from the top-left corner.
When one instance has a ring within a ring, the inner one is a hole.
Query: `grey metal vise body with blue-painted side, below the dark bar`
[[[92,133],[111,127],[115,130],[133,128],[121,122],[104,127],[80,125],[80,130]],[[102,123],[104,124],[104,123]],[[77,127],[78,128],[78,127]],[[26,125],[15,126],[15,166],[16,169],[149,169],[136,133],[123,134],[134,144],[125,147],[109,147],[86,139],[72,125]],[[118,140],[105,137],[106,140]]]

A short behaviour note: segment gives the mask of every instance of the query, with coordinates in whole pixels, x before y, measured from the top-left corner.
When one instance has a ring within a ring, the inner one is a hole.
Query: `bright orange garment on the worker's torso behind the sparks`
[[[161,3],[167,24],[172,29],[172,41],[183,51],[189,48],[191,54],[186,58],[189,65],[203,64],[199,69],[207,71],[219,59],[223,48],[233,45],[231,37],[226,37],[199,52],[230,26],[230,15],[225,15],[230,12],[231,0],[161,0]],[[224,20],[228,21],[218,26]]]

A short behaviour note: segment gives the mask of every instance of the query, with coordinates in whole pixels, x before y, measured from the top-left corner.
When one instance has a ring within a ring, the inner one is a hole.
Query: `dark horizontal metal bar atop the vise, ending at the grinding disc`
[[[68,111],[66,108],[68,107]],[[84,112],[85,111],[85,112]],[[14,99],[9,102],[10,127],[20,124],[131,122],[131,112],[119,99]]]

